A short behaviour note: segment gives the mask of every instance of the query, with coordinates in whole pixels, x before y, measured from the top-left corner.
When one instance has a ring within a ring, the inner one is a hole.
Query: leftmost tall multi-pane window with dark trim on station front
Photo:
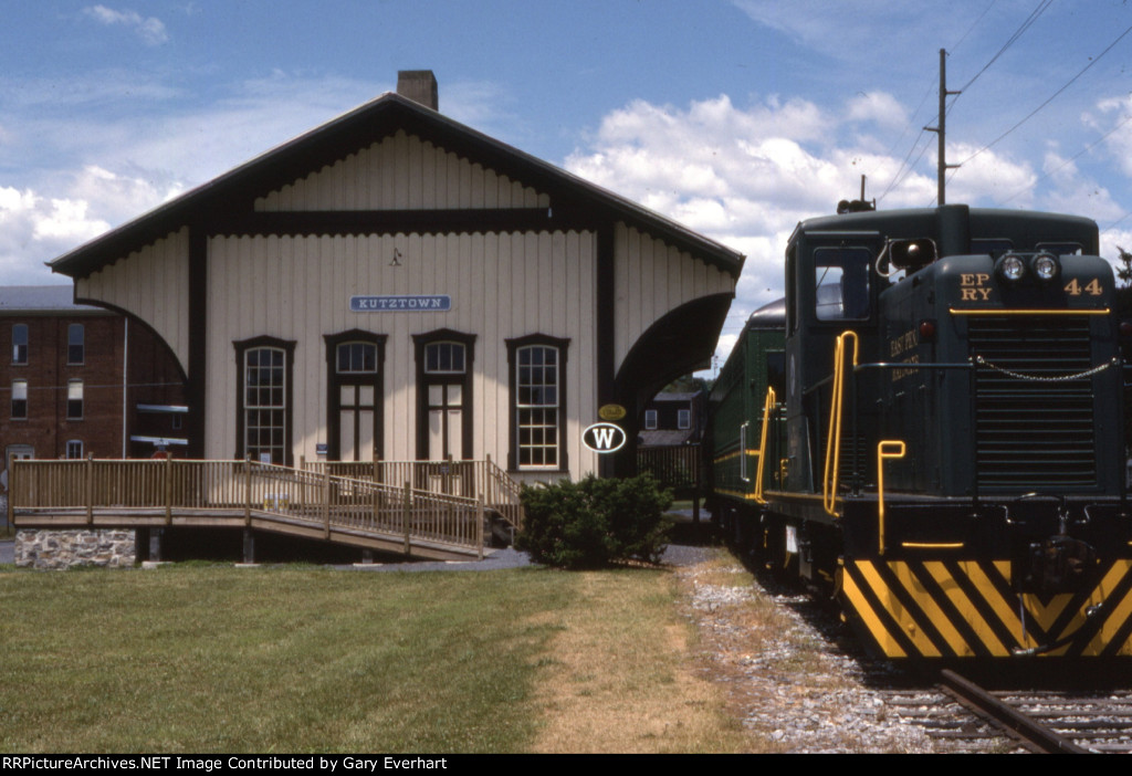
[[[232,343],[238,367],[237,458],[290,466],[294,340]]]

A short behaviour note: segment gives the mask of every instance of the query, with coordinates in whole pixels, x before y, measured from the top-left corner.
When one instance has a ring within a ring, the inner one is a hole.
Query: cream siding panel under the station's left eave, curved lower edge
[[[136,314],[189,371],[189,231],[182,229],[75,282],[80,299]]]

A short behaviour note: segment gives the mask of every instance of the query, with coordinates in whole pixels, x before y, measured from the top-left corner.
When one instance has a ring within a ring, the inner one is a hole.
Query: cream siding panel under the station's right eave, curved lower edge
[[[616,369],[641,335],[669,311],[700,296],[735,291],[730,274],[623,223],[615,231],[614,255]]]

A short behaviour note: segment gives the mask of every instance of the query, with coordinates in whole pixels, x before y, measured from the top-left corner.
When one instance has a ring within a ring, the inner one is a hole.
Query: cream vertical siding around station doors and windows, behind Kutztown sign
[[[490,454],[500,465],[511,446],[505,340],[535,333],[568,338],[566,454],[574,476],[593,471],[595,456],[582,447],[581,432],[597,420],[595,244],[591,232],[212,239],[206,455],[235,449],[232,343],[269,335],[297,343],[293,455],[314,458],[316,445],[329,441],[323,335],[358,328],[387,335],[385,457],[413,457],[412,336],[449,328],[477,335],[473,456]],[[400,267],[389,266],[394,250]],[[355,294],[448,294],[453,304],[446,312],[351,312]]]

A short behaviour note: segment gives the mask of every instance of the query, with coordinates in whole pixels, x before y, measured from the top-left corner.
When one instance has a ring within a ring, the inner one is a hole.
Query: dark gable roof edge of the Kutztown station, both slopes
[[[49,266],[83,277],[185,225],[207,226],[233,202],[256,197],[333,164],[398,129],[482,163],[551,197],[551,205],[598,212],[649,232],[738,278],[744,256],[565,170],[478,132],[395,93],[387,93],[69,251]],[[548,223],[550,225],[550,223]],[[595,225],[595,224],[593,224]]]

